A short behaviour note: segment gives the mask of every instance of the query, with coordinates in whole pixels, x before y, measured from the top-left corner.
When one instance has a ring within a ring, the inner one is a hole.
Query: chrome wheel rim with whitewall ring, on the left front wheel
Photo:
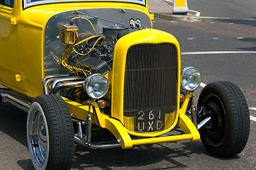
[[[49,157],[49,135],[45,114],[39,103],[30,106],[27,120],[28,149],[33,164],[45,169]]]

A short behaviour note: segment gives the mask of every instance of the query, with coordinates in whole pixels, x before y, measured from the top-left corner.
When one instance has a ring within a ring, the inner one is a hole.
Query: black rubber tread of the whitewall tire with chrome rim
[[[45,169],[70,169],[74,157],[74,131],[65,101],[57,95],[37,96],[48,126],[49,157]],[[34,163],[33,163],[34,164]]]

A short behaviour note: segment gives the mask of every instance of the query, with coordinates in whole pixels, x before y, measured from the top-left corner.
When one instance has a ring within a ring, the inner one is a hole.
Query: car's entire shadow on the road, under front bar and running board
[[[8,103],[0,103],[0,131],[27,148],[26,118],[27,113]],[[94,150],[75,147],[72,169],[179,169],[189,167],[184,158],[193,159],[196,154],[213,157],[206,152],[201,142],[188,141],[141,145],[133,149]],[[239,158],[236,156],[230,159]],[[21,169],[33,169],[30,159],[19,159],[17,164]]]

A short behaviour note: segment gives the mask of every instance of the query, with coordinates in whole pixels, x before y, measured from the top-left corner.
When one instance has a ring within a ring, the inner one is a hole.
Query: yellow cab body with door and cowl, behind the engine
[[[82,8],[128,8],[152,17],[147,7],[125,3],[45,4],[31,6],[25,10],[23,10],[22,1],[14,1],[13,7],[0,4],[1,53],[3,56],[9,56],[0,59],[1,84],[30,98],[43,94],[43,89],[38,87],[41,86],[42,79],[45,77],[43,37],[46,23],[56,13]],[[8,67],[9,65],[12,67]]]

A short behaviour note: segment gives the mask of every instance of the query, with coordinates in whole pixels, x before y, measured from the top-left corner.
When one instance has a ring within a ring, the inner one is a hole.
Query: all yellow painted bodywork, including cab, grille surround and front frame
[[[65,11],[74,11],[84,8],[89,9],[97,9],[97,8],[126,8],[140,11],[141,13],[145,13],[148,15],[150,19],[152,19],[152,14],[148,12],[148,6],[141,6],[137,4],[128,4],[128,3],[104,3],[104,2],[84,2],[84,3],[62,3],[62,4],[42,4],[40,6],[31,6],[29,8],[23,9],[22,1],[14,1],[13,8],[9,6],[1,5],[1,27],[5,27],[3,30],[1,29],[1,39],[6,40],[1,41],[1,55],[6,57],[1,57],[1,67],[0,67],[0,79],[1,84],[12,89],[13,91],[18,91],[18,93],[23,94],[29,98],[35,98],[43,94],[42,88],[42,80],[45,77],[45,66],[44,66],[44,35],[45,35],[45,26],[49,18],[54,16],[56,13],[63,13]],[[151,21],[151,20],[150,20]],[[2,24],[4,23],[4,24]],[[152,23],[150,23],[152,25]],[[11,30],[9,33],[4,33],[4,30]],[[129,135],[137,135],[142,137],[156,137],[160,136],[174,128],[177,124],[179,115],[184,115],[187,109],[187,106],[183,106],[179,108],[179,102],[177,102],[177,111],[174,113],[174,123],[171,127],[163,130],[161,132],[155,132],[150,134],[136,133],[130,130],[127,130],[123,127],[123,115],[121,114],[123,111],[123,95],[118,94],[118,91],[123,91],[123,79],[124,79],[124,68],[126,64],[126,52],[128,48],[132,45],[137,45],[141,43],[172,43],[177,47],[177,59],[178,59],[178,70],[180,70],[180,51],[179,51],[179,43],[176,38],[168,33],[164,33],[158,30],[141,30],[143,33],[130,34],[130,37],[126,37],[119,41],[118,45],[122,46],[122,50],[118,50],[118,57],[114,60],[113,64],[113,72],[109,72],[106,77],[108,79],[113,80],[109,82],[113,84],[112,95],[113,95],[113,106],[119,107],[111,107],[111,112],[113,118],[116,118],[121,121],[118,123],[113,123],[116,120],[111,120],[109,116],[104,116],[103,113],[99,111],[99,118],[104,118],[109,121],[108,125],[105,125],[104,121],[101,120],[100,125],[102,128],[107,128],[111,130],[113,134],[121,138],[123,141],[123,148],[128,148],[126,146],[132,147],[133,145],[143,145],[144,143],[155,143],[155,142],[169,142],[179,140],[179,136],[177,137],[169,137],[166,140],[157,139],[144,140],[144,142],[131,142],[128,140],[128,144],[126,144],[126,140],[129,139]],[[150,40],[149,40],[150,38]],[[11,52],[11,54],[10,54]],[[12,54],[13,53],[13,54]],[[7,57],[8,56],[8,57]],[[115,64],[115,62],[117,64]],[[118,64],[119,63],[119,64]],[[9,66],[12,67],[9,67]],[[113,78],[112,78],[113,77]],[[180,81],[180,72],[178,74],[178,82]],[[178,85],[178,89],[180,89],[180,84]],[[177,93],[177,98],[179,98],[179,92]],[[77,103],[73,101],[67,100],[67,105],[71,111],[77,109]],[[74,108],[73,108],[74,107]],[[85,108],[84,108],[85,109]],[[83,110],[83,109],[82,109]],[[88,108],[85,109],[88,111]],[[82,113],[76,112],[77,118],[81,118],[85,120],[87,114],[84,111]],[[102,116],[100,116],[103,114]],[[110,121],[111,120],[111,121]],[[190,123],[190,120],[185,119],[183,123]],[[119,125],[116,125],[119,124]],[[194,125],[189,128],[188,125],[185,124],[187,129],[189,130],[189,135],[187,137],[180,137],[180,140],[199,140],[199,132],[197,132]],[[111,127],[115,127],[113,130]],[[116,128],[119,127],[119,128]],[[117,131],[116,131],[117,130]],[[193,133],[192,133],[193,132]],[[121,135],[123,134],[123,135]],[[126,135],[124,135],[126,134]],[[173,139],[172,139],[173,138]],[[126,139],[126,140],[124,140]]]

